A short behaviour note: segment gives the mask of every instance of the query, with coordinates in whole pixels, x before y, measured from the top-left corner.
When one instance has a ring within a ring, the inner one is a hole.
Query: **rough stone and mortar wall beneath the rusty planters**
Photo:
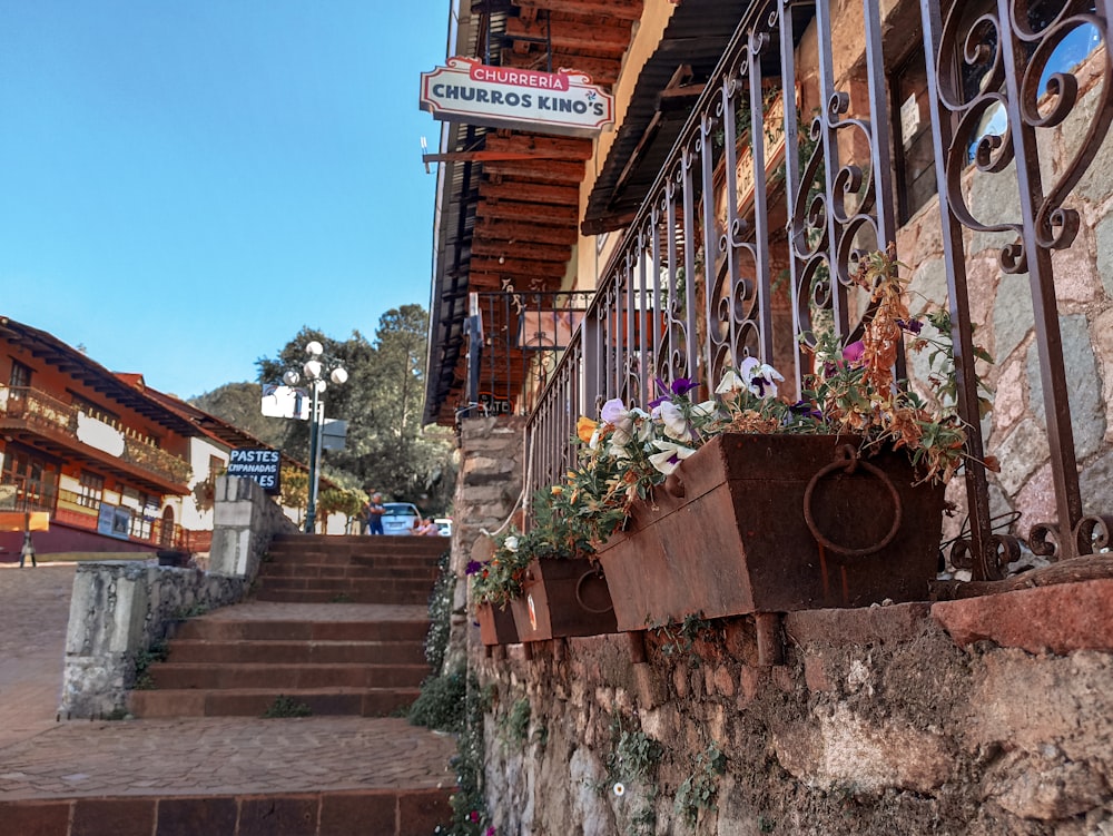
[[[622,635],[473,652],[487,806],[521,836],[1107,836],[1111,612],[1103,580],[790,613],[775,667],[750,618],[641,663]]]

